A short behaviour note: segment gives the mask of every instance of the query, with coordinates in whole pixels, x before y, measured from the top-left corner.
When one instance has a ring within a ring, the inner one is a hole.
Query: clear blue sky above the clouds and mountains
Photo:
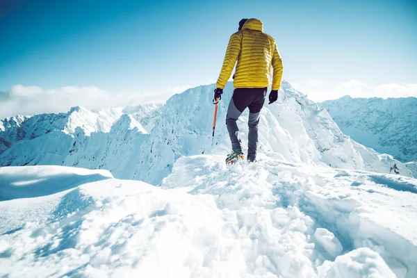
[[[301,88],[417,83],[416,1],[0,1],[0,90],[171,92],[214,83],[256,17]],[[171,89],[170,89],[171,88]],[[179,90],[179,89],[178,89]]]

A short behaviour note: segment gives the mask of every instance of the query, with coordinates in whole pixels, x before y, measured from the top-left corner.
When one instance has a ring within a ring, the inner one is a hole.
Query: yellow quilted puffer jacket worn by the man
[[[272,65],[272,90],[279,90],[283,72],[282,60],[274,38],[263,33],[261,20],[248,19],[240,31],[231,35],[217,81],[218,88],[223,89],[226,85],[236,60],[238,65],[233,82],[235,88],[269,87]]]

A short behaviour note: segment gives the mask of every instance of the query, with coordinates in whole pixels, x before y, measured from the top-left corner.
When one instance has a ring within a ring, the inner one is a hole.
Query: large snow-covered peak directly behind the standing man
[[[277,104],[265,104],[259,126],[259,151],[276,152],[295,163],[325,164],[346,169],[393,172],[411,176],[402,163],[379,155],[343,135],[326,111],[283,81]],[[195,154],[227,154],[230,142],[224,119],[233,92],[228,83],[218,108],[218,124],[211,140],[215,85],[199,86],[174,95],[161,109],[147,145],[136,179],[158,184],[172,169],[177,158]],[[247,116],[238,122],[243,146],[247,145]]]

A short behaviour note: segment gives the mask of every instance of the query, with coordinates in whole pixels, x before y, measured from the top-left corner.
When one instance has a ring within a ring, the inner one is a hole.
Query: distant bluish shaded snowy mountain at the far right
[[[417,159],[417,98],[341,99],[318,104],[343,133],[402,162]]]

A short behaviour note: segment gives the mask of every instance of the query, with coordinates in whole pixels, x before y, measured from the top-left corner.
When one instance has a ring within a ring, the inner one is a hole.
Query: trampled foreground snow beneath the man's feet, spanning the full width
[[[161,187],[0,167],[0,276],[417,276],[416,179],[280,157],[179,158]]]

